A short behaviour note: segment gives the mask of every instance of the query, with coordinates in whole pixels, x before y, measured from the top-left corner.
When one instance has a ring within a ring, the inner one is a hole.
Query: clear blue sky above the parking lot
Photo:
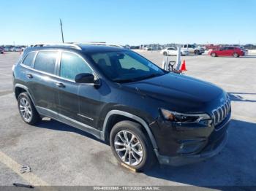
[[[1,0],[0,44],[256,44],[255,0]]]

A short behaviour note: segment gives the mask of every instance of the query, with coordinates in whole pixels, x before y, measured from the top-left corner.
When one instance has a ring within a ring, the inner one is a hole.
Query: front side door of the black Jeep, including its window
[[[98,100],[97,90],[93,85],[75,82],[75,76],[81,73],[94,74],[86,61],[73,52],[62,52],[59,63],[59,80],[56,81],[59,93],[59,114],[93,126],[94,100]],[[62,84],[62,85],[60,85]]]

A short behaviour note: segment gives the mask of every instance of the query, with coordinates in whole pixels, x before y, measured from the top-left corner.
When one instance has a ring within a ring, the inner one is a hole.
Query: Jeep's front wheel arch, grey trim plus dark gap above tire
[[[113,125],[115,125],[117,122],[120,122],[122,120],[132,120],[133,122],[138,122],[143,127],[143,130],[146,131],[147,136],[150,139],[153,148],[157,149],[157,142],[154,139],[154,136],[148,124],[146,123],[146,121],[141,119],[135,114],[131,114],[131,113],[120,111],[120,110],[111,110],[106,115],[105,120],[103,122],[103,127],[102,127],[102,139],[105,141],[108,141],[110,136],[110,130],[113,128]]]

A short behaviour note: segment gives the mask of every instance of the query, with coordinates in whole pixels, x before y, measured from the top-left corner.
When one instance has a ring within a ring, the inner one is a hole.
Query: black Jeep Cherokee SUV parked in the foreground
[[[231,107],[224,90],[121,47],[29,47],[12,71],[25,122],[50,117],[85,130],[137,170],[154,159],[169,165],[204,160],[227,141]]]

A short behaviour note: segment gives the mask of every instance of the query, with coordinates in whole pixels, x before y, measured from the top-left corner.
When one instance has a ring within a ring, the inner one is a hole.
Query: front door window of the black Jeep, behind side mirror
[[[62,52],[60,77],[75,80],[75,76],[80,73],[93,74],[93,71],[80,56],[71,52]]]

